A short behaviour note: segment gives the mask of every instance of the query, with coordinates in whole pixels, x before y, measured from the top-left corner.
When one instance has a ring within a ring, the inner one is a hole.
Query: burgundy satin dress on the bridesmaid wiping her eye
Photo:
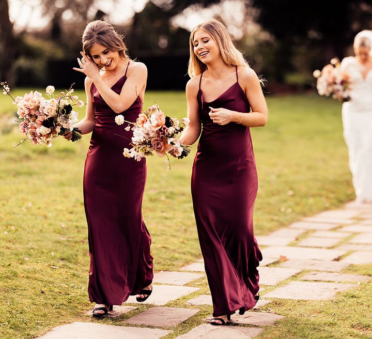
[[[128,63],[129,66],[129,63]],[[111,89],[120,93],[126,73]],[[121,305],[129,295],[153,280],[151,237],[142,220],[146,162],[123,155],[130,148],[132,131],[117,125],[116,113],[91,87],[95,124],[84,169],[84,206],[88,222],[91,302]],[[141,112],[140,97],[121,113],[135,122]]]

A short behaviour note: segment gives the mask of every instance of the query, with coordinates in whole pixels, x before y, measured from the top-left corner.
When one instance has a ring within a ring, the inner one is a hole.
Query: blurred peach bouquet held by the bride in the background
[[[350,100],[350,77],[342,72],[340,61],[333,58],[331,62],[320,70],[315,70],[313,76],[317,78],[316,89],[320,95],[329,96],[339,101]]]

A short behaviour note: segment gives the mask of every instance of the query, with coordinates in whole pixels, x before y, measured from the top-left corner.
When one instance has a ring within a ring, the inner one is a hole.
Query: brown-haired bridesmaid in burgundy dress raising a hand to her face
[[[91,258],[88,293],[93,316],[106,315],[129,295],[144,301],[152,292],[151,237],[142,220],[145,159],[124,157],[130,148],[127,124],[141,112],[147,69],[126,54],[122,37],[104,21],[93,21],[83,37],[81,68],[87,94],[86,117],[76,127],[93,131],[84,169],[84,206]],[[65,135],[71,138],[71,133]]]

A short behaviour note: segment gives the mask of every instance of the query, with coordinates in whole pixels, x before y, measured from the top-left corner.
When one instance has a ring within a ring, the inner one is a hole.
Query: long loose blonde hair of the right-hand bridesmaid
[[[232,66],[250,67],[247,60],[233,44],[227,28],[216,19],[209,19],[196,26],[190,34],[190,60],[188,62],[189,77],[196,77],[207,69],[194,53],[194,34],[198,30],[206,31],[216,42],[221,53],[222,60]]]

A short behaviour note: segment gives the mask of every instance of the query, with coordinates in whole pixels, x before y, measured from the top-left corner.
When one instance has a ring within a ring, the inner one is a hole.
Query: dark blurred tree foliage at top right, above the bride
[[[371,2],[365,0],[247,0],[246,4],[259,10],[257,22],[275,36],[280,72],[293,69],[297,52],[313,56],[318,51],[317,60],[312,61],[316,67],[334,56],[342,57],[356,33],[372,23]]]

